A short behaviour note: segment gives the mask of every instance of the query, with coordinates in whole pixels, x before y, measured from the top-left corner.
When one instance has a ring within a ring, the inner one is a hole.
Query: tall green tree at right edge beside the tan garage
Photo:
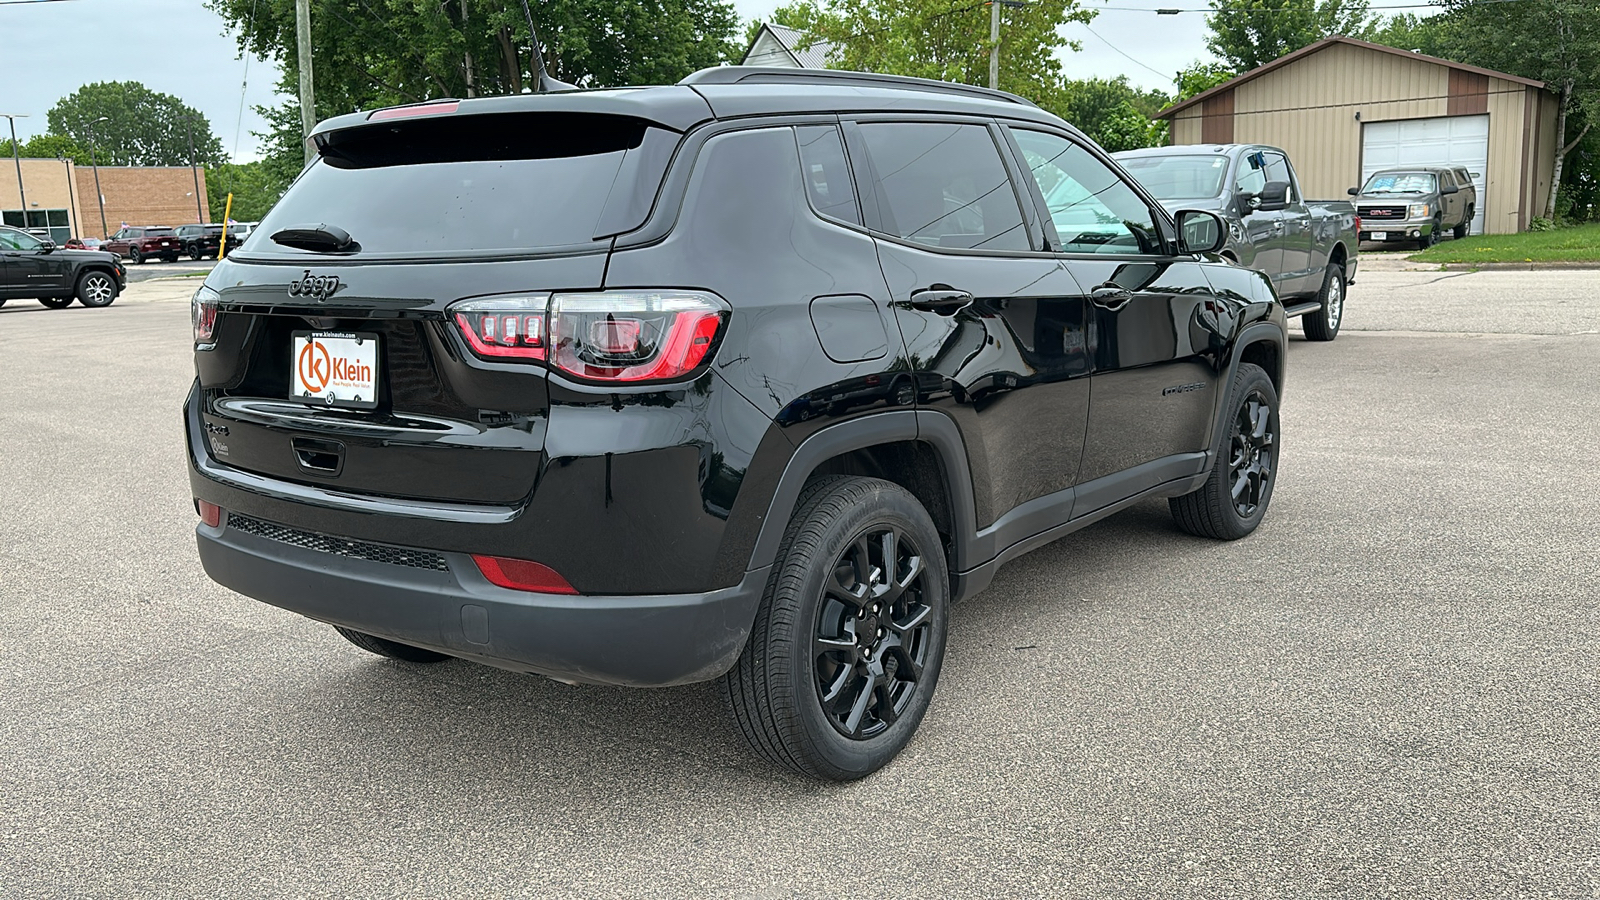
[[[1440,2],[1450,16],[1451,59],[1541,80],[1560,98],[1555,175],[1544,203],[1544,218],[1554,219],[1566,157],[1600,122],[1600,16],[1594,0]]]

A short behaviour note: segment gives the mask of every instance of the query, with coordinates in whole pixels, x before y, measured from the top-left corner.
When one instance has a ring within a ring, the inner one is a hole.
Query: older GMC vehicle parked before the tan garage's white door
[[[1362,215],[1362,240],[1405,242],[1429,248],[1445,229],[1456,239],[1472,231],[1478,191],[1459,181],[1458,168],[1386,168],[1360,189],[1350,187]]]

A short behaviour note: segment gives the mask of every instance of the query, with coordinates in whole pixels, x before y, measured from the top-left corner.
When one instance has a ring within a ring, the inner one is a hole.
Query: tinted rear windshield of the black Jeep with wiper
[[[315,258],[272,242],[330,224],[360,255],[526,251],[582,245],[646,123],[619,115],[496,114],[397,120],[331,133],[261,224],[251,253]],[[653,194],[651,194],[653,195]]]

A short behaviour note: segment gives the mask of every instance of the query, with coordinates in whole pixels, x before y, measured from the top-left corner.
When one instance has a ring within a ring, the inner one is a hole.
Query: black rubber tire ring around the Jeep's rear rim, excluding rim
[[[931,644],[923,679],[899,719],[870,740],[853,740],[842,735],[822,711],[821,698],[816,693],[816,655],[811,641],[816,636],[818,615],[822,607],[824,580],[830,575],[834,562],[856,536],[880,525],[898,525],[917,540],[917,551],[925,565],[923,602],[933,610]],[[797,596],[786,597],[795,609],[795,633],[789,660],[790,684],[786,687],[798,700],[797,709],[805,740],[811,745],[814,757],[834,769],[829,772],[830,777],[859,778],[882,769],[917,732],[938,687],[939,669],[944,663],[949,591],[949,575],[938,532],[933,520],[910,495],[880,488],[824,525],[818,554],[808,560]]]

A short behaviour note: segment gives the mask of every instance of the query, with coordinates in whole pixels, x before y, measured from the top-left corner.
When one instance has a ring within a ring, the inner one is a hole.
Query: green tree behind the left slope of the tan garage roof
[[[1358,35],[1370,16],[1366,0],[1211,0],[1211,10],[1206,48],[1235,72],[1325,37]]]

